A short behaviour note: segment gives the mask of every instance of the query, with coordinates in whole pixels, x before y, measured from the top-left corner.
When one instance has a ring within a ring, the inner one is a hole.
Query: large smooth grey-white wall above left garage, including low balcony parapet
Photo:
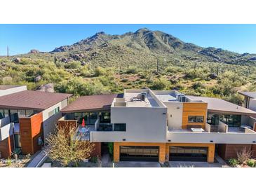
[[[92,132],[92,142],[165,142],[164,107],[112,107],[111,123],[126,123],[126,132]]]

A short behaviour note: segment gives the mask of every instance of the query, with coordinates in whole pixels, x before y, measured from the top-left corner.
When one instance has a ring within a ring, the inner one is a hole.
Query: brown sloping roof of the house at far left
[[[23,90],[0,97],[0,108],[44,110],[62,102],[72,94]]]

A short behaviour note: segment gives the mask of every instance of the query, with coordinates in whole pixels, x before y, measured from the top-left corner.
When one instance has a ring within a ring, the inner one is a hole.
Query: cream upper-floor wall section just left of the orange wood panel
[[[182,128],[183,104],[181,102],[164,102],[168,108],[168,128]]]

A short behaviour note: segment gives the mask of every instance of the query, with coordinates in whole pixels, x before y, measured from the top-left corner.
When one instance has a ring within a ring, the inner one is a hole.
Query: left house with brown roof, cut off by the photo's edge
[[[27,90],[27,86],[0,85],[0,153],[34,154],[55,130],[70,94]]]

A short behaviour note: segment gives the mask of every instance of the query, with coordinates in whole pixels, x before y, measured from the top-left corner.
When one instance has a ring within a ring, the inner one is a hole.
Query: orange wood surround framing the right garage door
[[[166,144],[166,160],[168,159],[170,153],[170,146],[203,146],[208,147],[208,154],[207,154],[207,162],[213,163],[215,157],[215,144],[181,144],[181,143],[167,143]]]

